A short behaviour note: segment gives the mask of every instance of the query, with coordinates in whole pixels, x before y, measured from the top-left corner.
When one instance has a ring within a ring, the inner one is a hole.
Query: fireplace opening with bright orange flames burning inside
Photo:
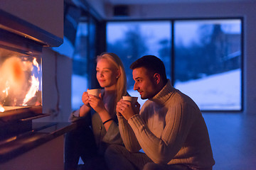
[[[42,105],[41,57],[0,47],[0,112]]]

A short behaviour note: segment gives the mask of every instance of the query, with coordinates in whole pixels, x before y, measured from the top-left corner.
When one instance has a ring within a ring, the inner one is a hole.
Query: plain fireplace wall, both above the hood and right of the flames
[[[63,38],[63,0],[1,0],[0,8],[28,23]],[[35,122],[67,122],[71,112],[70,57],[43,47],[43,113],[50,116]],[[56,69],[57,68],[57,69]]]

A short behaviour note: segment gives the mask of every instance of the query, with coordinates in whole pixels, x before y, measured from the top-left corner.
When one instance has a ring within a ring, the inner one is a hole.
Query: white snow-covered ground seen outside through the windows
[[[190,96],[201,110],[240,110],[241,108],[241,71],[235,69],[222,74],[215,74],[202,79],[186,82],[176,82],[175,88]],[[87,90],[87,79],[73,75],[72,105],[79,108],[82,104],[83,91]],[[142,100],[137,91],[128,89],[131,96],[137,96],[142,106]]]

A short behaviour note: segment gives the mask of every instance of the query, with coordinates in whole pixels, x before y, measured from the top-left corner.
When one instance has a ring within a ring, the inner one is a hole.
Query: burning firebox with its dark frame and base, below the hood
[[[0,143],[32,130],[42,113],[42,57],[38,43],[0,29]]]

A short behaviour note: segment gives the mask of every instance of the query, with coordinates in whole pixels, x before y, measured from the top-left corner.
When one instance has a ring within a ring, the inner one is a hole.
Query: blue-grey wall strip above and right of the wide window
[[[110,8],[110,6],[107,6]],[[112,7],[111,7],[112,8]],[[112,10],[106,13],[108,20],[114,19],[157,19],[157,18],[244,18],[244,58],[243,58],[243,94],[244,111],[246,114],[256,114],[256,3],[255,2],[208,2],[208,3],[174,3],[174,4],[144,4],[129,6],[129,16],[114,17]]]

